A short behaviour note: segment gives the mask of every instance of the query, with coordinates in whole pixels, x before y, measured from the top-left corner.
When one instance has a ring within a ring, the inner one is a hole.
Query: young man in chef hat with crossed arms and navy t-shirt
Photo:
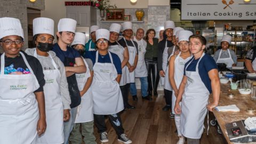
[[[77,86],[76,75],[86,72],[86,67],[80,54],[70,45],[75,36],[76,21],[69,18],[59,20],[57,39],[58,42],[53,45],[57,57],[63,62],[66,70],[68,90],[71,99],[71,117],[64,123],[64,144],[68,143],[68,137],[74,127],[77,113],[77,106],[81,103],[81,95]]]

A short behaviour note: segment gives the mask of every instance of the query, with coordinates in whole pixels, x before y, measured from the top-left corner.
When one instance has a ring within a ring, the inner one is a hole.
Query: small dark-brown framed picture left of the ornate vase
[[[124,20],[124,9],[107,9],[106,20]]]

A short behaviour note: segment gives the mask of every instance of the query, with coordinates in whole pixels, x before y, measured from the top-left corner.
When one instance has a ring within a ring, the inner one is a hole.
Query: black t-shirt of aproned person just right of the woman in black
[[[167,41],[167,47],[172,47],[173,43],[172,41]],[[163,70],[162,64],[163,64],[163,52],[165,49],[165,42],[164,40],[160,41],[158,43],[158,57],[157,57],[157,63],[158,63],[158,71]]]

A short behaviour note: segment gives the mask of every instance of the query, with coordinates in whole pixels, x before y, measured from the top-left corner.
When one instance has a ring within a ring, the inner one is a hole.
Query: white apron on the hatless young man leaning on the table
[[[196,71],[187,71],[188,77],[185,92],[181,102],[181,134],[191,139],[200,139],[204,130],[204,118],[207,113],[207,103],[209,91],[201,80],[198,73],[198,63],[205,53],[197,62]],[[191,63],[191,61],[190,61]],[[187,65],[186,69],[190,65]]]

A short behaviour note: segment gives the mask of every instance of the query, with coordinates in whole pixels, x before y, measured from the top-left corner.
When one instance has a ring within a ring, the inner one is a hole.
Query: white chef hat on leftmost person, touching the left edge
[[[20,20],[9,17],[0,18],[0,39],[12,35],[17,35],[24,39]]]

